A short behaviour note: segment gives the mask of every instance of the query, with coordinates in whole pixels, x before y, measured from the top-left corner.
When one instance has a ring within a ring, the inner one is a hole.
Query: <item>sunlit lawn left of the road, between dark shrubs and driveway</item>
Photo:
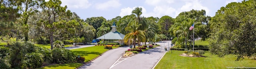
[[[112,48],[118,48],[116,46],[112,46]],[[104,49],[104,46],[92,46],[92,47],[86,47],[86,48],[78,48],[78,49],[72,49],[74,54],[77,56],[80,55],[85,58],[85,62],[88,62],[103,52],[106,52],[108,49]]]

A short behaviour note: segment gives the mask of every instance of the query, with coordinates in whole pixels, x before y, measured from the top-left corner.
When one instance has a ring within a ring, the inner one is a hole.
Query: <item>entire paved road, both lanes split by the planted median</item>
[[[164,46],[168,47],[168,42],[170,46],[170,41],[157,42],[161,46],[141,52],[122,61],[120,61],[120,57],[124,54],[124,51],[129,49],[128,46],[109,50],[78,69],[152,69],[166,52],[164,51]]]

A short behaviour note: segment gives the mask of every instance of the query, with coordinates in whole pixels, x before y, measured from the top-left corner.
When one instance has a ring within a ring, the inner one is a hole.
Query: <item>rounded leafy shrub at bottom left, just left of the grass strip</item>
[[[22,61],[22,69],[35,69],[38,67],[41,67],[44,59],[42,58],[43,55],[40,53],[31,53],[31,54],[26,54],[26,57]]]

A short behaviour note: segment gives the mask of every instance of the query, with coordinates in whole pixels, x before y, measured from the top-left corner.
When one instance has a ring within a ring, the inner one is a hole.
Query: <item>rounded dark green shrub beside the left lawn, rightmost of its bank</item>
[[[54,63],[72,63],[76,61],[75,54],[65,48],[54,48],[52,50],[52,57]]]

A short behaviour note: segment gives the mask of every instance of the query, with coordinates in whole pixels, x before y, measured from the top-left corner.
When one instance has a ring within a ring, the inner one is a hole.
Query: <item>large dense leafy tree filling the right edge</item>
[[[219,57],[236,55],[236,60],[256,54],[255,2],[232,2],[216,12],[209,23],[210,53]]]

